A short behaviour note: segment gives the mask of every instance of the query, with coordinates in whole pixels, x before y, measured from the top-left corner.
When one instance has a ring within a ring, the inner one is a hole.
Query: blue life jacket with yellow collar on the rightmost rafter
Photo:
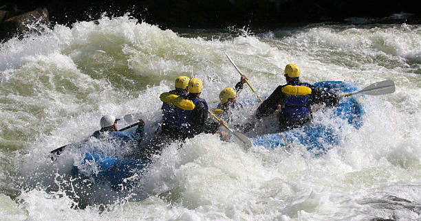
[[[304,121],[312,116],[310,108],[310,94],[312,89],[309,84],[286,85],[282,88],[285,94],[285,103],[281,110],[283,117],[288,121]]]

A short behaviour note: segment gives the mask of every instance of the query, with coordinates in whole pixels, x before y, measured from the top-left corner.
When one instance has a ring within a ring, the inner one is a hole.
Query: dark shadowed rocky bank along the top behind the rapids
[[[363,0],[121,0],[0,1],[0,40],[39,32],[33,25],[72,25],[102,14],[129,13],[139,21],[167,28],[280,27],[291,23],[344,22],[376,18],[382,23],[421,23],[421,1]],[[393,15],[395,14],[395,15]],[[404,16],[402,16],[404,15]],[[369,20],[367,20],[369,21]]]

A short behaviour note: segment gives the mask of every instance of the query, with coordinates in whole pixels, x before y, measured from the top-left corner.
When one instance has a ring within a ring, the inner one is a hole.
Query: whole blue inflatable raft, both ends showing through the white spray
[[[325,81],[313,85],[338,94],[353,93],[359,89],[358,86],[350,82]],[[358,101],[360,96],[343,97],[338,106],[332,108],[330,119],[343,119],[344,124],[349,124],[357,129],[360,128],[363,124],[362,118],[364,115],[363,106]],[[281,133],[257,135],[251,139],[254,146],[266,148],[301,143],[310,152],[320,154],[338,144],[340,135],[337,131],[338,127],[312,121],[301,128]],[[138,181],[139,176],[142,176],[145,167],[150,163],[151,161],[147,160],[88,153],[85,155],[83,162],[74,164],[72,175],[96,183],[109,184],[112,189],[122,189]]]

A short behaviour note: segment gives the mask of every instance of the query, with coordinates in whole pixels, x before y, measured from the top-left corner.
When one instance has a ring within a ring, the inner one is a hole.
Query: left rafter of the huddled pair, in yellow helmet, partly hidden
[[[162,101],[162,126],[161,135],[169,137],[169,139],[177,139],[177,113],[172,100],[180,95],[187,94],[187,86],[190,78],[187,76],[180,76],[175,79],[175,89],[169,92],[162,93],[160,100]]]

